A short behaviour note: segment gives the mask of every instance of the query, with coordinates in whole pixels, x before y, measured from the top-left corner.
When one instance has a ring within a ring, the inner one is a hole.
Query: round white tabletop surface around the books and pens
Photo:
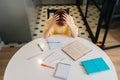
[[[21,49],[9,61],[4,74],[4,80],[60,80],[53,75],[55,69],[50,69],[40,65],[43,63],[56,67],[57,63],[71,64],[71,69],[67,80],[118,80],[115,67],[108,55],[92,42],[83,38],[71,38],[61,35],[50,37],[49,40],[60,41],[62,44],[54,49],[49,49],[47,41],[43,38],[35,39]],[[77,61],[73,61],[61,48],[65,45],[79,40],[92,49]],[[42,52],[37,44],[40,43],[44,51]],[[110,67],[110,70],[88,75],[81,61],[102,57]]]

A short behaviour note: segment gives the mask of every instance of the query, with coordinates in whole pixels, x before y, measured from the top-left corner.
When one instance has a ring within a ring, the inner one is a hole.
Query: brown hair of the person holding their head
[[[59,15],[59,20],[57,24],[63,26],[64,25],[63,14],[68,14],[68,13],[64,9],[59,9],[55,12],[55,14]]]

